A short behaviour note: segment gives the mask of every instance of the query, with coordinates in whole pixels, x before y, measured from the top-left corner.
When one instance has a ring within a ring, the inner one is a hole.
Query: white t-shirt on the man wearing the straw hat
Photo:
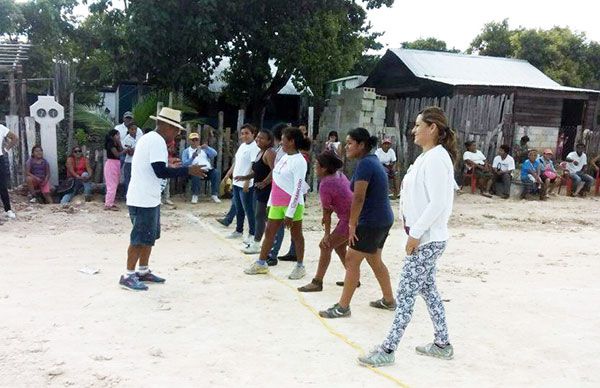
[[[157,132],[148,132],[138,140],[131,162],[127,206],[149,208],[160,205],[164,179],[156,176],[152,163],[167,164],[168,156],[167,143]]]

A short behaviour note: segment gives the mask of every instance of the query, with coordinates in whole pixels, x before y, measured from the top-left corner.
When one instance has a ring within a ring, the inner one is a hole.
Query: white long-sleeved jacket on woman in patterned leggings
[[[419,155],[408,168],[402,181],[400,212],[419,245],[448,240],[455,187],[452,160],[441,145]]]

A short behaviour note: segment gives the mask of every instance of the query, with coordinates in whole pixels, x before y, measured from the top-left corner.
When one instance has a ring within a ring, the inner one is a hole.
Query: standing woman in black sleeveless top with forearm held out
[[[267,202],[269,202],[269,194],[271,194],[271,171],[273,171],[276,156],[271,131],[261,129],[256,136],[256,145],[260,148],[260,153],[252,164],[252,172],[245,176],[235,177],[235,180],[241,181],[254,179],[254,241],[242,249],[242,252],[246,254],[260,252],[260,240],[262,240],[267,223]]]

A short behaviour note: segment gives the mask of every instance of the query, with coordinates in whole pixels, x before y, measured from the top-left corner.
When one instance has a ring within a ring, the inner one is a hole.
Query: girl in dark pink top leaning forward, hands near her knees
[[[352,191],[350,181],[339,169],[343,162],[334,152],[324,152],[317,156],[316,173],[321,180],[319,196],[323,207],[322,224],[325,235],[319,243],[321,256],[319,266],[313,280],[304,287],[298,288],[300,292],[317,292],[323,290],[323,277],[331,261],[331,252],[335,252],[345,265],[346,247],[348,246],[348,220],[350,219],[350,206],[352,205]],[[338,223],[331,231],[331,214],[336,213]]]

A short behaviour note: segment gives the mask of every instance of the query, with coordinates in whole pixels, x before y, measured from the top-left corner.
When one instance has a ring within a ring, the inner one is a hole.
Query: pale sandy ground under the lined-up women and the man
[[[151,261],[167,283],[141,293],[117,285],[130,230],[125,210],[105,212],[99,198],[68,211],[13,199],[18,219],[0,225],[3,387],[600,386],[597,198],[457,197],[438,272],[456,357],[414,353],[432,339],[419,299],[396,364],[382,369],[391,379],[357,366],[359,352],[345,342],[369,349],[392,320],[368,306],[380,291],[366,264],[352,317],[326,322],[329,329],[288,287],[308,282],[316,268],[315,198],[305,279],[286,279],[290,263],[272,269],[282,282],[244,275],[252,257],[214,221],[228,202],[176,199],[177,209],[163,209]],[[396,225],[384,250],[394,285],[404,243]],[[334,259],[325,290],[305,295],[306,304],[336,302],[342,277]]]

